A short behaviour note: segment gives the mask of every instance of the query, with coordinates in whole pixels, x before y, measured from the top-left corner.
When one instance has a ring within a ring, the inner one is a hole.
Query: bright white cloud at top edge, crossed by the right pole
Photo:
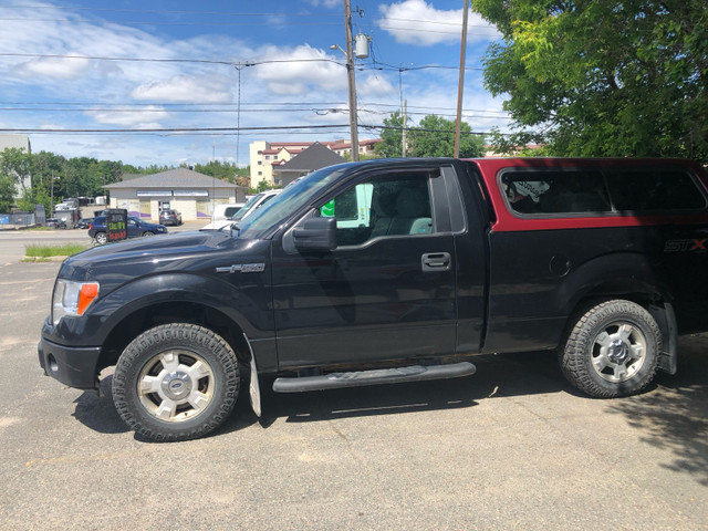
[[[404,0],[391,6],[379,6],[382,19],[378,25],[391,33],[397,42],[429,46],[460,42],[462,10],[435,9],[425,0]],[[497,39],[494,27],[479,14],[469,13],[467,21],[468,42]]]

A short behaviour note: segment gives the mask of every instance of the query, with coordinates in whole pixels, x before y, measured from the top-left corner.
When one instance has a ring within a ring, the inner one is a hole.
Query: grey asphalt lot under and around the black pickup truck
[[[170,229],[171,231],[171,229]],[[54,231],[46,241],[69,238]],[[85,237],[85,235],[83,235]],[[708,335],[641,396],[576,394],[548,353],[475,376],[302,395],[153,444],[43,376],[59,263],[0,232],[0,529],[708,529]],[[71,236],[74,238],[74,236]]]

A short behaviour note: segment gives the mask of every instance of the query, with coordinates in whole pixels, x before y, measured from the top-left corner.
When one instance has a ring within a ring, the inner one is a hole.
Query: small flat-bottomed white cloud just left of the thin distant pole
[[[176,75],[167,81],[150,81],[137,86],[131,96],[140,101],[168,103],[229,103],[231,91],[226,83]]]

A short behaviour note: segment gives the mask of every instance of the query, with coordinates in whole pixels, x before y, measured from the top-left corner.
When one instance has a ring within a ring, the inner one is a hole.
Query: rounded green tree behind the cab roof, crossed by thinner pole
[[[455,122],[428,115],[418,127],[410,129],[410,144],[415,157],[451,157],[455,154]],[[472,134],[468,123],[460,125],[460,157],[481,157],[485,138]]]

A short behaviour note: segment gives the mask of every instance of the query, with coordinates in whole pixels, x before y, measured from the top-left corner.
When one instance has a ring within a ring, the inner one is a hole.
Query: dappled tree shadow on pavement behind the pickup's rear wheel
[[[708,334],[681,337],[678,373],[659,373],[656,389],[613,400],[610,413],[642,430],[642,440],[668,450],[669,470],[688,473],[708,486]]]

